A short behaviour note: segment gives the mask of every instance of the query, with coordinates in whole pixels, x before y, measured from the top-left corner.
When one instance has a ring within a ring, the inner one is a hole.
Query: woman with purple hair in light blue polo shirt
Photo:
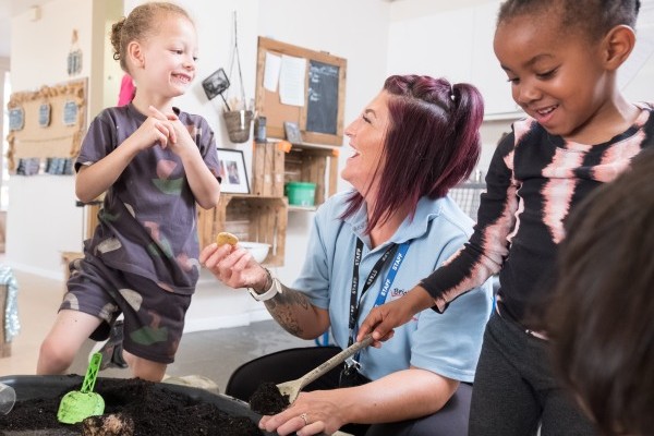
[[[401,298],[468,239],[472,220],[448,197],[480,156],[483,100],[468,84],[393,75],[347,129],[352,190],[316,213],[300,277],[282,284],[243,249],[211,244],[201,262],[223,283],[250,288],[303,339],[330,330],[335,347],[284,350],[246,363],[226,393],[249,400],[263,382],[304,375],[352,344],[372,307]],[[380,349],[358,353],[264,416],[280,435],[467,435],[471,383],[492,307],[488,286],[446,314],[426,310]],[[473,320],[472,323],[470,320]],[[435,335],[434,332],[438,332]]]

